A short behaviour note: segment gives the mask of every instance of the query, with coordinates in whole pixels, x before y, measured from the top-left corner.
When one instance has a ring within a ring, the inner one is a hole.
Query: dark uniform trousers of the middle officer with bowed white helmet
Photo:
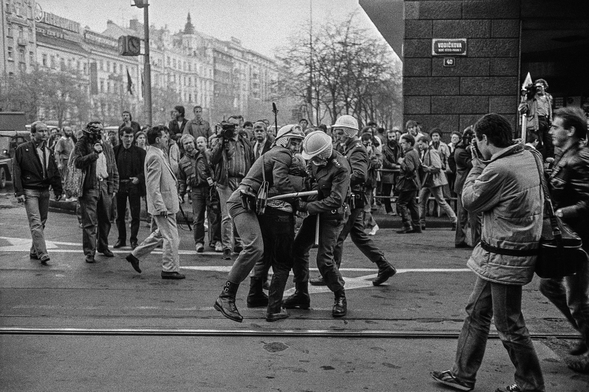
[[[361,210],[361,209],[360,209]],[[315,243],[315,222],[317,215],[309,215],[303,220],[294,237],[293,242],[293,273],[294,283],[309,282],[309,250]],[[335,261],[333,250],[337,236],[342,231],[344,219],[319,219],[319,249],[317,249],[317,268],[321,273],[327,287],[331,291],[343,290],[342,274],[340,274]]]

